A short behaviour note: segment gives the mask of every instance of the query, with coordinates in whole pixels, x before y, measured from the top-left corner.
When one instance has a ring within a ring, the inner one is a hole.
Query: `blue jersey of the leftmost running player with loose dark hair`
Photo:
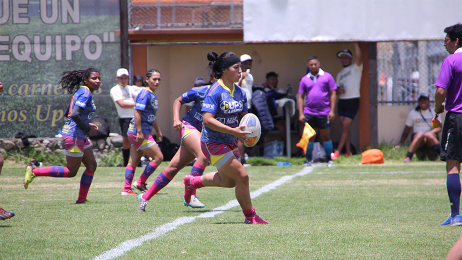
[[[87,131],[80,128],[69,115],[75,106],[80,106],[83,111],[80,113],[80,117],[85,123],[89,123],[92,115],[96,112],[95,102],[90,89],[87,86],[81,86],[72,96],[71,104],[69,106],[69,113],[66,115],[66,123],[63,128],[59,131],[63,135],[75,136],[81,139],[87,138]]]

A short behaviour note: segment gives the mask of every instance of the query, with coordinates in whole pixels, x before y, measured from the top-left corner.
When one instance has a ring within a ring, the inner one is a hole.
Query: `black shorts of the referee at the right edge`
[[[441,136],[441,156],[445,161],[462,161],[462,113],[448,111]]]

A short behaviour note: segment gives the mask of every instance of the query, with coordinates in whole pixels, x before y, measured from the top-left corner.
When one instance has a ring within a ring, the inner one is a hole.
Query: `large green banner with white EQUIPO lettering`
[[[96,114],[120,132],[109,95],[120,67],[119,27],[118,0],[0,0],[0,138],[58,134],[72,97],[58,84],[62,73],[88,67],[101,71]]]

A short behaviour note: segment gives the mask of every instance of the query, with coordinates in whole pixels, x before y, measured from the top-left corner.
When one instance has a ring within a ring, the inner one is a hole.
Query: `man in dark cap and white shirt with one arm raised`
[[[340,156],[345,147],[345,156],[351,155],[351,133],[350,127],[359,109],[359,97],[361,87],[361,76],[363,71],[362,53],[358,43],[354,43],[355,58],[349,49],[342,49],[337,52],[337,57],[342,62],[343,69],[337,74],[337,95],[339,120],[342,125],[342,134],[332,159]]]

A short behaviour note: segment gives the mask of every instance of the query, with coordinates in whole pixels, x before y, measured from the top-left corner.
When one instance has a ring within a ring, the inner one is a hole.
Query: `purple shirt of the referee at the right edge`
[[[462,113],[462,48],[443,60],[435,86],[447,90],[445,109]]]

